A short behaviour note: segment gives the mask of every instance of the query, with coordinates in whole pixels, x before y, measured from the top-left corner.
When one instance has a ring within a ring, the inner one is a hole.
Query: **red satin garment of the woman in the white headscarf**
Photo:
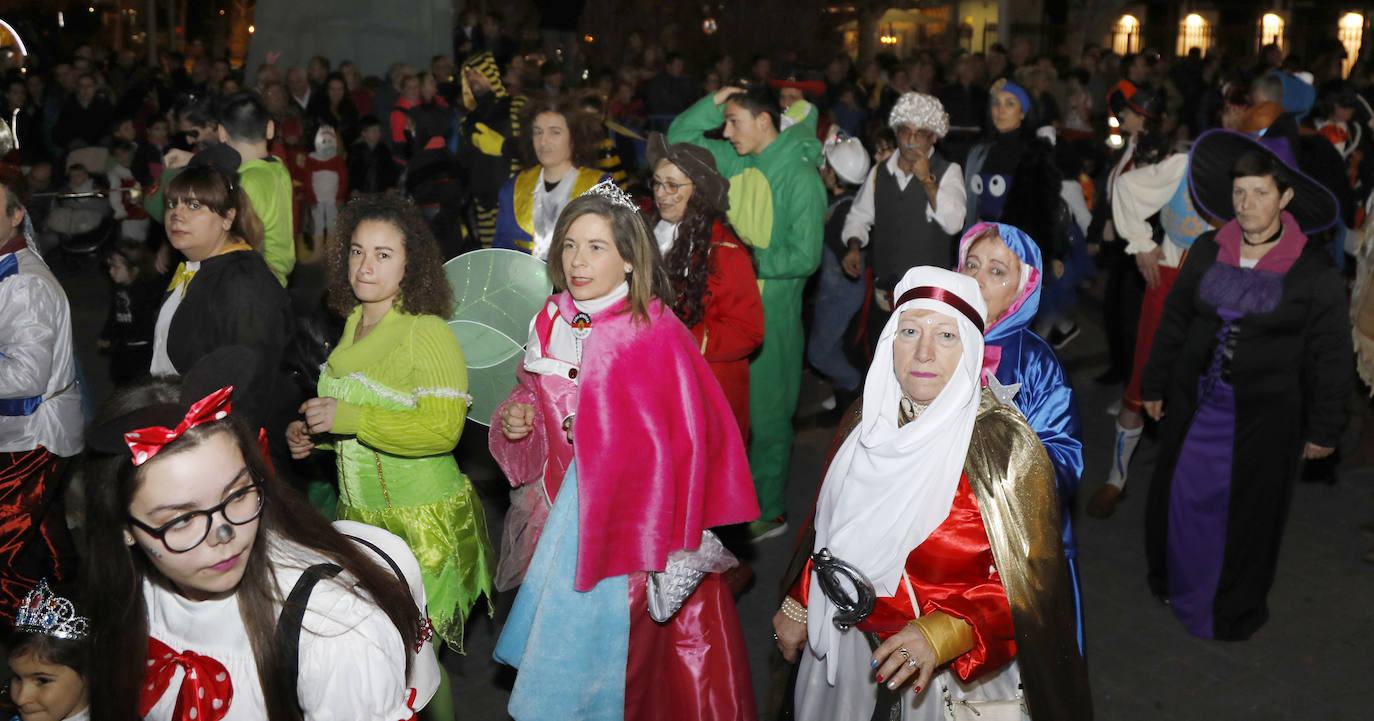
[[[949,515],[907,555],[905,571],[921,615],[944,611],[973,626],[973,648],[951,662],[960,680],[1000,669],[1017,655],[1011,606],[967,477],[959,475]],[[808,560],[790,595],[805,606],[809,589]],[[857,628],[888,639],[914,618],[916,613],[903,584],[894,596],[879,597],[872,615]]]

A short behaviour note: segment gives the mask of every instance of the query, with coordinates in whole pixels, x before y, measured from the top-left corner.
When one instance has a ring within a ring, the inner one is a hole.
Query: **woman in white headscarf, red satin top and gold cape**
[[[912,268],[893,298],[815,515],[813,551],[856,567],[877,603],[838,628],[849,604],[807,564],[774,618],[801,656],[796,716],[1091,718],[1052,468],[1015,387],[984,380],[978,286]]]

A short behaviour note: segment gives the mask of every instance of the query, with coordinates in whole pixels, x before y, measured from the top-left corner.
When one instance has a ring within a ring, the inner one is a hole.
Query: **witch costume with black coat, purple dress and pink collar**
[[[1340,273],[1282,224],[1253,268],[1235,221],[1194,243],[1145,367],[1142,397],[1165,401],[1149,581],[1194,636],[1243,640],[1268,619],[1303,446],[1337,445],[1351,393]]]

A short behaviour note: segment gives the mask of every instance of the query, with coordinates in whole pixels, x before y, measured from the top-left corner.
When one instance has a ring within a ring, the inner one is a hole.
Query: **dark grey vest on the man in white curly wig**
[[[948,168],[949,161],[938,152],[930,157],[930,177],[943,179]],[[892,290],[916,265],[954,268],[954,236],[926,218],[929,205],[915,177],[901,190],[886,163],[874,172],[868,244],[872,247],[874,284],[879,288]]]

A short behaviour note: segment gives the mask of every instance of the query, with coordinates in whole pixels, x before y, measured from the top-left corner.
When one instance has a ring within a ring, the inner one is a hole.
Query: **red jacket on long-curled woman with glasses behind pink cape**
[[[691,328],[697,347],[710,364],[749,438],[749,356],[764,342],[764,304],[746,249],[719,220],[710,236],[706,313]]]

